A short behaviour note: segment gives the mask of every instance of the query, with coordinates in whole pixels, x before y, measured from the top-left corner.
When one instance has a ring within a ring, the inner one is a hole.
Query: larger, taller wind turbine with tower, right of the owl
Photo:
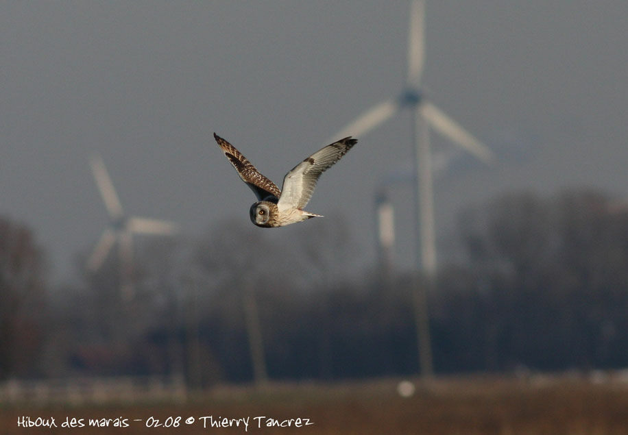
[[[490,162],[492,151],[474,138],[458,123],[447,116],[425,97],[421,89],[421,76],[425,58],[424,38],[425,1],[412,0],[410,4],[410,25],[407,51],[406,84],[398,97],[387,99],[374,105],[347,125],[334,138],[344,136],[363,137],[401,110],[408,109],[412,114],[412,137],[416,161],[416,225],[417,253],[421,260],[426,284],[416,286],[415,316],[421,373],[426,377],[433,374],[430,333],[428,326],[426,295],[435,282],[436,275],[436,236],[434,223],[434,198],[432,157],[429,128],[449,138],[452,142]],[[420,255],[419,255],[420,253]]]

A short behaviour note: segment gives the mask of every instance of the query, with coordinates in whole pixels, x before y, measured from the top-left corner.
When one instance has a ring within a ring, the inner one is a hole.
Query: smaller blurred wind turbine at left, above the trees
[[[87,267],[92,273],[98,271],[114,243],[117,243],[121,267],[123,268],[123,296],[130,297],[132,293],[130,270],[133,264],[133,234],[171,236],[178,232],[178,225],[156,219],[126,216],[102,158],[94,154],[89,162],[96,185],[109,214],[109,225],[105,228],[92,251]]]

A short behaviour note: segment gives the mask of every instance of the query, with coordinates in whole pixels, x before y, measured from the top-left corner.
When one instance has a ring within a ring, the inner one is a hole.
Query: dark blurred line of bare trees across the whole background
[[[79,266],[82,284],[47,288],[32,232],[0,219],[0,379],[416,373],[415,277],[384,279],[378,265],[349,276],[348,228],[321,220],[282,245],[223,222],[145,243],[124,299],[115,256],[97,273]],[[628,212],[612,197],[509,192],[463,210],[457,233],[465,258],[428,295],[437,373],[628,366]]]

